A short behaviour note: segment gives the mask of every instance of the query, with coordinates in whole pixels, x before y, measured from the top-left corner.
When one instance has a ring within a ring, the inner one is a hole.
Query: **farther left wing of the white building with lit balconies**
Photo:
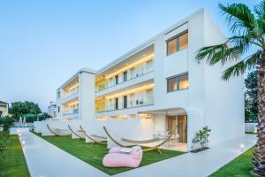
[[[95,116],[94,93],[95,71],[88,68],[80,69],[57,89],[57,118],[93,118]]]

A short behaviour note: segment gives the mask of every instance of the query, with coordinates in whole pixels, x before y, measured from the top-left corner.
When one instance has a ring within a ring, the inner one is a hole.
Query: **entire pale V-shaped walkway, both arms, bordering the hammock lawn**
[[[28,170],[33,177],[109,176],[28,132],[27,129],[20,129],[19,134],[20,141],[24,142],[23,150]],[[114,176],[205,177],[254,146],[255,142],[255,135],[245,135],[200,153],[186,153],[176,158],[163,160]],[[241,144],[244,144],[244,148],[241,147]]]

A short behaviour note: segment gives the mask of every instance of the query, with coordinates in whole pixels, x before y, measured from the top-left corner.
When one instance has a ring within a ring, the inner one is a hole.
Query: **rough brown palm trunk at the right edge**
[[[253,159],[254,173],[265,176],[265,51],[258,65],[258,140]]]

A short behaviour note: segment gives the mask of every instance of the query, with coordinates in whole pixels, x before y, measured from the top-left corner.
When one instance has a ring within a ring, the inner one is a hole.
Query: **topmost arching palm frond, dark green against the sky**
[[[246,6],[246,4],[219,4],[219,8],[226,15],[226,20],[231,28],[232,33],[239,32],[245,34],[247,30],[254,29],[255,19],[254,14]]]

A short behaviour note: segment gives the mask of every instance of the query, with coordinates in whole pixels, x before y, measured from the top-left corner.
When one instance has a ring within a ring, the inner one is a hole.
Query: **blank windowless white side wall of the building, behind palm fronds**
[[[221,31],[207,13],[204,15],[204,26],[206,46],[224,42]],[[205,117],[206,125],[212,129],[212,145],[244,135],[243,75],[232,77],[229,81],[221,79],[223,70],[230,65],[205,66]]]

